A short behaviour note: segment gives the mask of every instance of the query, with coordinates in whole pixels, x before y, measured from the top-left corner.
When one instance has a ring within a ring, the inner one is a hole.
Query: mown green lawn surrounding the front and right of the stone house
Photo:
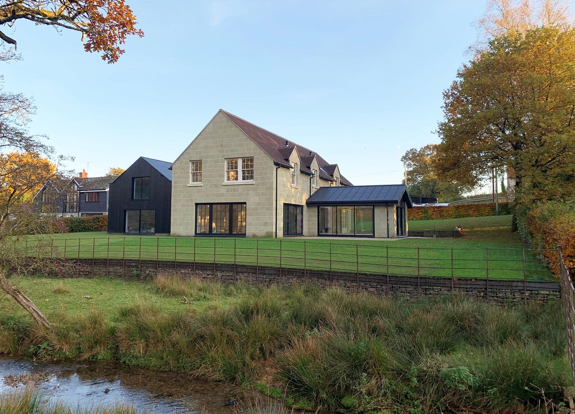
[[[511,216],[409,221],[411,229],[454,228],[457,239],[351,240],[124,236],[105,232],[49,236],[56,256],[237,263],[371,274],[549,279],[543,263],[510,231]],[[47,236],[48,237],[48,236]],[[29,240],[28,254],[35,241]],[[26,248],[23,246],[23,248]],[[489,252],[486,250],[489,249]],[[525,269],[525,271],[523,271]]]

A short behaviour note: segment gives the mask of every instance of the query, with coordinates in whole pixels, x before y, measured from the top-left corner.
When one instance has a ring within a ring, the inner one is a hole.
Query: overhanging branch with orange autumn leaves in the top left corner
[[[116,63],[130,35],[144,36],[136,28],[136,16],[124,0],[5,0],[0,3],[0,26],[18,20],[55,26],[81,33],[86,52],[102,52],[102,59]],[[14,45],[16,39],[0,30],[0,39]]]

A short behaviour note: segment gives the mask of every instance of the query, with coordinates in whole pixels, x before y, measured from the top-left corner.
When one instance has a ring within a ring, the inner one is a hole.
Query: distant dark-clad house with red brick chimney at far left
[[[88,177],[83,170],[71,182],[52,180],[42,186],[34,201],[43,213],[60,217],[108,214],[108,186],[116,177]]]

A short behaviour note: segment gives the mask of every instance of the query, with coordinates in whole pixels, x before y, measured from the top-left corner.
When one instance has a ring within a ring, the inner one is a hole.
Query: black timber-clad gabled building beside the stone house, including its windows
[[[170,234],[170,164],[140,157],[110,184],[108,233]]]

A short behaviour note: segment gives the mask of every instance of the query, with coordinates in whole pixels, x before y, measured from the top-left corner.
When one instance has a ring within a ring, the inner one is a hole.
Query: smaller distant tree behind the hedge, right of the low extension
[[[435,150],[436,145],[429,144],[419,150],[411,148],[401,157],[401,162],[407,168],[409,193],[413,196],[438,198],[441,202],[461,197],[470,190],[469,187],[440,179],[433,168]]]

